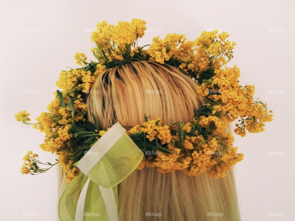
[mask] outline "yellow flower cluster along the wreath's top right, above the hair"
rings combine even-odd
[[[187,41],[184,35],[177,34],[168,34],[163,40],[155,37],[147,50],[149,60],[161,64],[177,60],[181,63],[180,70],[199,78],[199,74],[210,66],[221,68],[233,58],[232,49],[236,44],[226,40],[229,37],[226,32],[217,33],[218,30],[202,32],[195,41]]]

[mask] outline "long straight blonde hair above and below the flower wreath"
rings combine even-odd
[[[168,125],[191,121],[203,100],[197,85],[170,65],[146,61],[120,65],[106,70],[92,85],[88,117],[93,122],[93,114],[101,129],[115,122],[134,126],[145,115],[161,117]],[[163,174],[144,168],[124,180],[118,191],[120,221],[240,220],[232,171],[214,180],[207,174]]]

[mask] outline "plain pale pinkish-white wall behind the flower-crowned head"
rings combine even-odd
[[[148,22],[140,45],[167,33],[195,40],[203,30],[222,29],[235,41],[240,83],[256,86],[274,121],[266,131],[235,136],[245,154],[236,166],[242,220],[295,220],[294,189],[294,2],[293,1],[0,1],[1,220],[57,220],[57,169],[22,176],[27,150],[42,161],[44,134],[22,127],[14,114],[34,119],[53,99],[62,69],[76,67],[75,52],[91,56],[91,32],[102,20]],[[27,92],[27,93],[26,93]],[[273,151],[273,152],[270,152]]]

